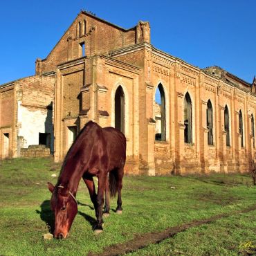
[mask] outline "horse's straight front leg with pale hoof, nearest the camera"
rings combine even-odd
[[[101,173],[98,176],[98,194],[97,194],[97,210],[96,210],[96,218],[97,218],[97,223],[94,229],[95,233],[102,232],[102,208],[103,208],[103,203],[104,203],[104,191],[106,187],[106,180],[107,180],[107,172]]]

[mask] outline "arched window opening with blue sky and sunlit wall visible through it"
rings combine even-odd
[[[165,92],[163,85],[159,84],[156,88],[155,95],[155,120],[156,120],[156,134],[155,140],[166,140],[166,126],[165,126]]]

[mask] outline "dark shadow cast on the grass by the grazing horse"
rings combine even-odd
[[[91,207],[91,205],[81,203],[80,201],[77,201],[77,204],[82,206],[88,206],[91,210],[94,209],[93,207]],[[40,218],[42,219],[42,221],[46,223],[48,232],[53,233],[54,226],[55,226],[55,218],[51,210],[50,200],[43,201],[40,205],[40,208],[41,208],[41,211],[36,210],[35,212],[37,212],[37,214],[40,214]],[[93,217],[81,211],[78,211],[77,213],[80,214],[82,217],[84,217],[84,219],[86,219],[86,221],[88,221],[91,224],[92,228],[95,226],[96,219],[94,219]]]

